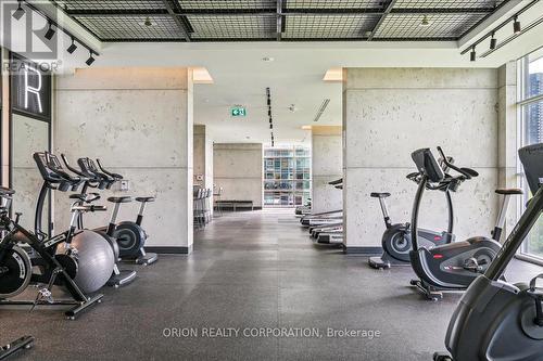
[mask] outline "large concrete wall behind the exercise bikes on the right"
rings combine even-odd
[[[394,222],[411,218],[411,153],[441,145],[480,176],[454,194],[459,238],[489,234],[497,215],[497,70],[350,68],[343,89],[343,172],[348,250],[372,250],[384,229],[370,192],[390,192]],[[441,192],[427,193],[420,227],[446,227]]]

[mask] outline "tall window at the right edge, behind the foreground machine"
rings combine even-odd
[[[518,65],[520,144],[543,143],[543,48],[519,60]],[[526,204],[531,196],[526,182],[523,190]],[[540,218],[528,235],[521,253],[543,261],[543,218]]]

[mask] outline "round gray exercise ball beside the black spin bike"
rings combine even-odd
[[[85,230],[72,240],[72,246],[77,249],[78,270],[75,283],[86,294],[102,288],[110,280],[115,266],[115,256],[110,243],[100,234]],[[64,244],[58,252],[64,252]]]

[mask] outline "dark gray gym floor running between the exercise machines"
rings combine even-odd
[[[512,269],[512,280],[541,272],[520,261]],[[0,309],[0,344],[34,335],[18,360],[420,361],[443,349],[459,298],[427,301],[408,286],[409,268],[376,271],[366,258],[311,243],[292,210],[225,214],[195,233],[191,256],[139,271],[76,321]],[[292,337],[299,328],[311,335]],[[328,328],[379,337],[329,337]]]

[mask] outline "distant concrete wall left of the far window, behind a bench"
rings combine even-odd
[[[262,207],[262,144],[214,144],[214,183],[223,188],[222,199],[253,201],[255,207]]]

